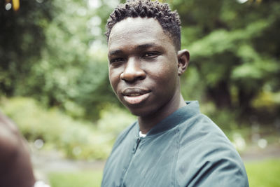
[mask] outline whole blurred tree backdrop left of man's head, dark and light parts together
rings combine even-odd
[[[111,7],[102,1],[20,2],[15,12],[1,1],[0,92],[96,120],[104,103],[116,102],[98,15]]]

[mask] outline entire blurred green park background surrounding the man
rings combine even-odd
[[[0,1],[0,109],[52,187],[99,186],[114,140],[136,119],[108,78],[105,25],[119,2]],[[183,97],[227,134],[251,186],[280,186],[280,1],[164,2],[190,50]]]

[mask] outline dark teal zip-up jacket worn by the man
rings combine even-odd
[[[198,102],[172,113],[139,137],[136,122],[108,158],[102,186],[248,186],[243,162]]]

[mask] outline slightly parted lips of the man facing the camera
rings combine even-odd
[[[139,104],[149,97],[150,92],[143,88],[127,88],[123,90],[122,95],[128,104]]]

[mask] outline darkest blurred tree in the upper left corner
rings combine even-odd
[[[0,1],[0,92],[14,94],[19,81],[41,57],[45,26],[52,20],[50,1],[21,1],[13,11],[11,1]]]

